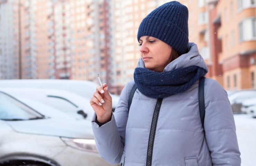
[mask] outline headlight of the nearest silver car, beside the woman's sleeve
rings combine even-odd
[[[64,138],[61,137],[62,141],[66,145],[80,150],[88,152],[98,153],[94,139],[78,139],[78,138]]]

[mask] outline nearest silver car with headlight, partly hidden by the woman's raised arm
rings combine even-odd
[[[0,165],[109,166],[97,153],[89,121],[0,91]]]

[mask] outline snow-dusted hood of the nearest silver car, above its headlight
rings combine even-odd
[[[89,121],[66,121],[46,118],[6,122],[13,130],[21,133],[94,139],[91,122]]]

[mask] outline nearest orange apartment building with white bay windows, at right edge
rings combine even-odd
[[[223,83],[227,90],[255,89],[256,2],[221,0],[216,5],[220,20],[217,36],[221,39]]]

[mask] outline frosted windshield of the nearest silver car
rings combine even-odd
[[[30,120],[39,118],[44,118],[44,116],[11,96],[0,92],[1,120]]]

